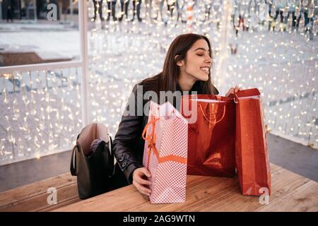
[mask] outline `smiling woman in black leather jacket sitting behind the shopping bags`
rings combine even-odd
[[[147,107],[144,106],[150,101],[141,99],[143,94],[153,91],[159,96],[160,91],[189,91],[189,94],[196,91],[197,94],[217,95],[218,90],[211,83],[211,66],[211,44],[207,37],[192,33],[179,35],[167,51],[163,71],[135,85],[114,138],[113,151],[117,159],[114,188],[125,186],[128,182],[134,184],[141,194],[151,194],[146,187],[150,184],[146,177],[151,177],[151,174],[142,165],[144,141],[141,133],[148,122]],[[138,95],[139,88],[142,88],[141,95]],[[230,88],[226,96],[238,90],[237,86]],[[160,103],[163,102],[165,100],[160,100]],[[133,107],[131,103],[134,103]],[[134,114],[140,112],[140,106],[145,111]],[[127,114],[128,111],[133,113]]]

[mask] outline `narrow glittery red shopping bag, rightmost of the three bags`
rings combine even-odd
[[[242,194],[271,194],[271,172],[259,90],[242,90],[235,95],[237,176]]]

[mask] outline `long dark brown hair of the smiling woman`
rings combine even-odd
[[[160,91],[172,91],[175,92],[180,69],[177,66],[177,61],[187,61],[187,52],[197,40],[204,39],[208,43],[210,49],[209,55],[212,59],[211,44],[208,38],[204,35],[197,35],[193,33],[178,35],[175,40],[172,41],[165,57],[165,63],[163,64],[163,71],[158,75],[151,78],[146,78],[140,85],[144,85],[146,90],[153,90],[157,94]],[[179,55],[178,57],[176,57]],[[176,57],[176,58],[175,58]],[[218,91],[211,83],[211,71],[208,74],[208,81],[196,81],[198,88],[202,94],[218,94]],[[217,92],[217,93],[216,93]]]

